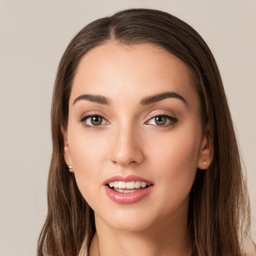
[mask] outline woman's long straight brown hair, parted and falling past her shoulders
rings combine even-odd
[[[190,191],[188,230],[193,255],[243,255],[249,204],[240,156],[225,92],[215,59],[201,36],[187,23],[153,9],[126,9],[82,28],[68,44],[58,66],[51,105],[52,158],[48,176],[48,214],[38,241],[38,256],[86,253],[95,233],[94,215],[80,194],[63,157],[62,129],[81,57],[109,41],[150,43],[184,61],[192,70],[208,123],[214,158],[197,170]]]

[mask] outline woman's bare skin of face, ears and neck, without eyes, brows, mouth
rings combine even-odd
[[[186,102],[168,97],[140,104],[166,91]],[[102,95],[110,104],[73,103],[83,94]],[[100,115],[103,122],[93,126],[86,114]],[[154,115],[171,118],[157,125]],[[95,214],[90,256],[191,254],[189,191],[197,168],[205,169],[212,160],[207,126],[202,126],[189,67],[175,56],[149,44],[109,42],[82,57],[63,137],[65,161]],[[113,202],[103,181],[129,174],[150,180],[152,190],[136,203]]]

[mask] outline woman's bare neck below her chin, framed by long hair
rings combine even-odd
[[[95,215],[97,232],[90,246],[89,256],[188,256],[191,242],[187,222],[163,219],[139,231],[106,228]]]

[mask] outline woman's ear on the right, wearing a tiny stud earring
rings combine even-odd
[[[209,132],[209,124],[206,125],[202,136],[201,147],[197,159],[197,168],[207,169],[213,159],[213,144]]]

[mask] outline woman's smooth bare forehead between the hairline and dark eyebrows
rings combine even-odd
[[[80,94],[140,100],[141,97],[174,91],[198,101],[190,68],[164,49],[150,44],[97,46],[80,60],[70,99]]]

